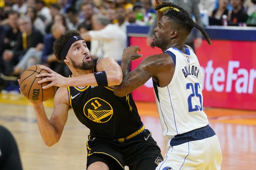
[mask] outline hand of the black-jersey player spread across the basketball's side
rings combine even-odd
[[[52,71],[48,67],[41,66],[40,68],[42,70],[48,71],[49,73],[38,74],[37,78],[40,78],[40,77],[46,77],[46,78],[44,78],[43,80],[38,81],[37,83],[41,84],[41,83],[44,83],[44,82],[47,82],[47,81],[51,82],[50,84],[48,84],[46,86],[43,86],[42,87],[43,89],[47,89],[47,88],[52,87],[52,86],[68,87],[67,86],[67,77],[63,77],[62,75]]]

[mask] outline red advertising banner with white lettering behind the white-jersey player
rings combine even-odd
[[[130,37],[130,45],[140,46],[142,59],[131,63],[135,69],[146,57],[162,53],[147,46],[146,38]],[[205,40],[196,54],[203,73],[204,106],[256,110],[256,42]],[[132,92],[133,99],[155,101],[152,80]]]

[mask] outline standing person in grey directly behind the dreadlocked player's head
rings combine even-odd
[[[171,2],[185,9],[189,13],[190,18],[192,15],[194,15],[196,19],[196,23],[200,26],[203,26],[201,21],[201,14],[198,9],[198,2],[199,2],[198,0],[187,0],[187,1],[172,0]],[[148,32],[148,39],[147,39],[148,46],[150,46],[152,42],[152,36],[154,34],[154,29],[156,25],[157,23],[155,18],[155,22],[153,22]],[[196,38],[194,39],[193,31],[191,31],[190,34],[187,36],[187,39],[185,40],[184,44],[187,44],[188,46],[192,47],[195,51],[195,48],[199,48],[202,44],[201,32],[197,30]]]

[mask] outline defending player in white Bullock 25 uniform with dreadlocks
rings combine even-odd
[[[208,44],[211,41],[184,9],[172,3],[159,4],[155,8],[159,12],[171,9],[154,30],[152,46],[161,48],[163,53],[145,58],[128,73],[130,61],[140,57],[140,49],[126,48],[121,63],[123,81],[114,93],[125,96],[152,77],[163,135],[170,139],[165,159],[156,170],[219,170],[219,140],[202,110],[201,68],[193,50],[184,48],[193,27],[202,32]]]

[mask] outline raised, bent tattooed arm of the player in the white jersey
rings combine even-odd
[[[130,46],[124,50],[121,62],[123,80],[120,85],[114,87],[114,94],[117,96],[123,97],[129,94],[146,83],[151,77],[158,79],[162,73],[166,73],[173,66],[172,60],[169,60],[169,55],[163,53],[145,58],[135,70],[128,73],[131,60],[136,60],[140,57],[136,55],[136,47]],[[133,52],[131,52],[132,50]]]

